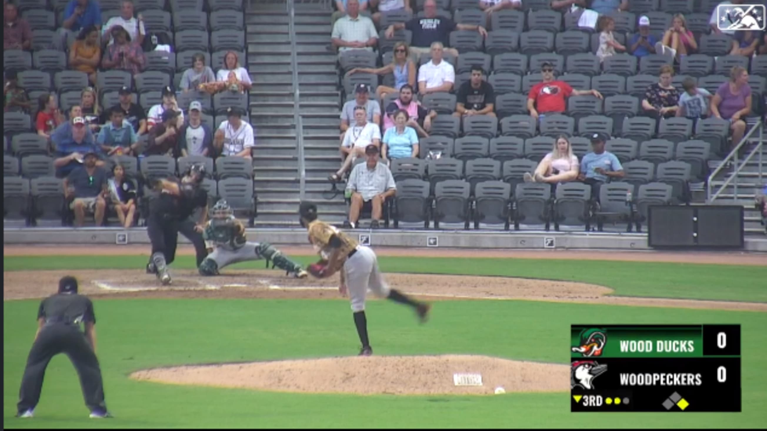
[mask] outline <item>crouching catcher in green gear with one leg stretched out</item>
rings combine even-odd
[[[249,242],[245,239],[245,226],[235,219],[232,207],[224,199],[216,202],[210,212],[202,238],[212,245],[213,251],[199,265],[200,275],[218,275],[219,269],[226,265],[266,259],[267,267],[272,261],[272,268],[284,269],[295,278],[308,276],[301,265],[282,255],[268,242]]]

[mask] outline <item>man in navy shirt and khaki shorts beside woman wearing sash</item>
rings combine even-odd
[[[96,166],[97,153],[88,152],[84,156],[83,166],[74,169],[64,179],[64,196],[73,199],[70,209],[74,210],[74,220],[77,227],[84,223],[85,213],[93,214],[96,225],[104,223],[104,212],[107,209],[106,198],[107,172]]]

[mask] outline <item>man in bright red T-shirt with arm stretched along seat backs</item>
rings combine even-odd
[[[528,94],[530,115],[541,120],[545,114],[562,114],[567,109],[566,98],[570,96],[588,96],[602,98],[597,90],[574,90],[565,81],[554,80],[554,65],[546,61],[541,65],[543,82],[535,84]]]

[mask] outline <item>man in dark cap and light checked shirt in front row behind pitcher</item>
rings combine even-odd
[[[371,143],[365,146],[365,163],[357,163],[346,183],[347,196],[351,195],[349,219],[344,226],[356,227],[360,212],[370,212],[370,228],[377,229],[384,215],[384,202],[397,192],[397,184],[386,163],[379,163],[380,150]],[[372,181],[370,181],[372,178]]]

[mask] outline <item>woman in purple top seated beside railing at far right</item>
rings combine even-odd
[[[749,72],[743,67],[732,67],[729,81],[720,85],[711,99],[711,114],[729,120],[732,146],[738,145],[746,133],[746,115],[751,113],[751,87]]]

